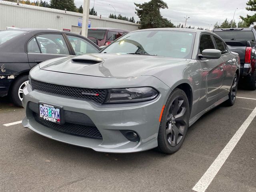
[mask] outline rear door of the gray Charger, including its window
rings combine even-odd
[[[230,53],[228,46],[220,40],[220,38],[213,36],[216,49],[221,51],[221,59],[223,60],[223,82],[222,82],[222,95],[226,96],[230,91],[230,86],[233,82],[234,73],[236,71],[236,60],[234,56]]]

